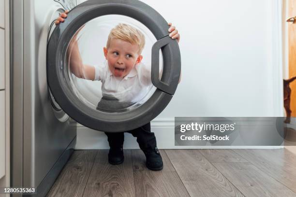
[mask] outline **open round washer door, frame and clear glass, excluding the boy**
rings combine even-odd
[[[123,19],[117,21],[120,17]],[[122,85],[126,89],[121,98],[116,93],[111,96],[106,93],[108,88],[103,85],[104,80],[89,81],[75,76],[69,55],[76,39],[83,63],[93,59],[90,64],[99,65],[96,58],[104,57],[104,54],[103,47],[97,50],[100,42],[96,39],[101,38],[100,33],[106,27],[114,27],[117,23],[130,23],[135,28],[138,25],[140,30],[146,28],[150,33],[144,33],[145,37],[152,35],[154,39],[146,39],[150,58],[148,64],[141,65],[141,68],[147,67],[151,85],[137,86],[141,83],[136,81]],[[65,22],[55,28],[47,45],[47,81],[59,106],[78,123],[99,131],[128,131],[150,122],[172,99],[180,77],[178,42],[169,37],[168,28],[159,13],[138,0],[88,0],[75,7]],[[96,30],[99,33],[94,35]],[[151,41],[153,43],[149,45]],[[107,73],[108,64],[105,61],[96,69]],[[117,77],[119,83],[125,83],[129,77],[128,80],[141,78],[140,72],[137,75],[132,71],[123,79]],[[110,70],[109,74],[112,75]],[[110,77],[109,74],[106,76]]]

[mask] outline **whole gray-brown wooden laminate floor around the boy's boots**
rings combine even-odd
[[[296,197],[296,154],[287,149],[161,150],[151,171],[141,150],[74,151],[47,197]]]

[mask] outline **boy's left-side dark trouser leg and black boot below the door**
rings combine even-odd
[[[108,161],[112,165],[121,164],[124,161],[123,157],[123,133],[105,133],[108,137],[110,146]]]

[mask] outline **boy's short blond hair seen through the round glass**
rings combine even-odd
[[[139,55],[142,53],[145,46],[145,36],[143,33],[127,24],[119,23],[115,28],[111,29],[108,36],[107,48],[110,46],[111,39],[113,38],[138,45]]]

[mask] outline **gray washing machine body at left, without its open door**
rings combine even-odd
[[[76,139],[76,122],[50,97],[46,81],[48,35],[65,8],[54,0],[10,2],[11,186],[34,187],[32,196],[43,197]]]

